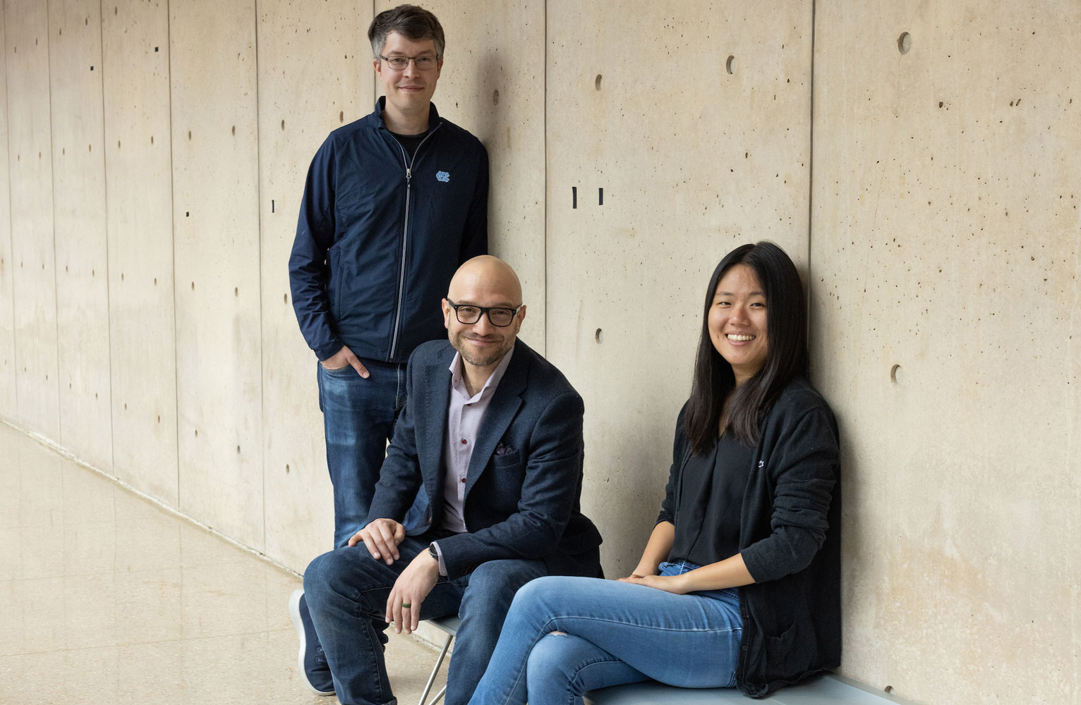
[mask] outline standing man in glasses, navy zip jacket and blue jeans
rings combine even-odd
[[[316,152],[289,260],[293,308],[319,358],[335,546],[366,524],[410,353],[445,335],[439,301],[454,270],[488,252],[488,153],[431,103],[443,28],[399,5],[376,15],[368,37],[386,95]],[[411,529],[425,501],[403,517]],[[303,595],[290,608],[303,635]],[[312,690],[333,694],[321,652],[302,647],[301,659],[324,674],[309,678]]]

